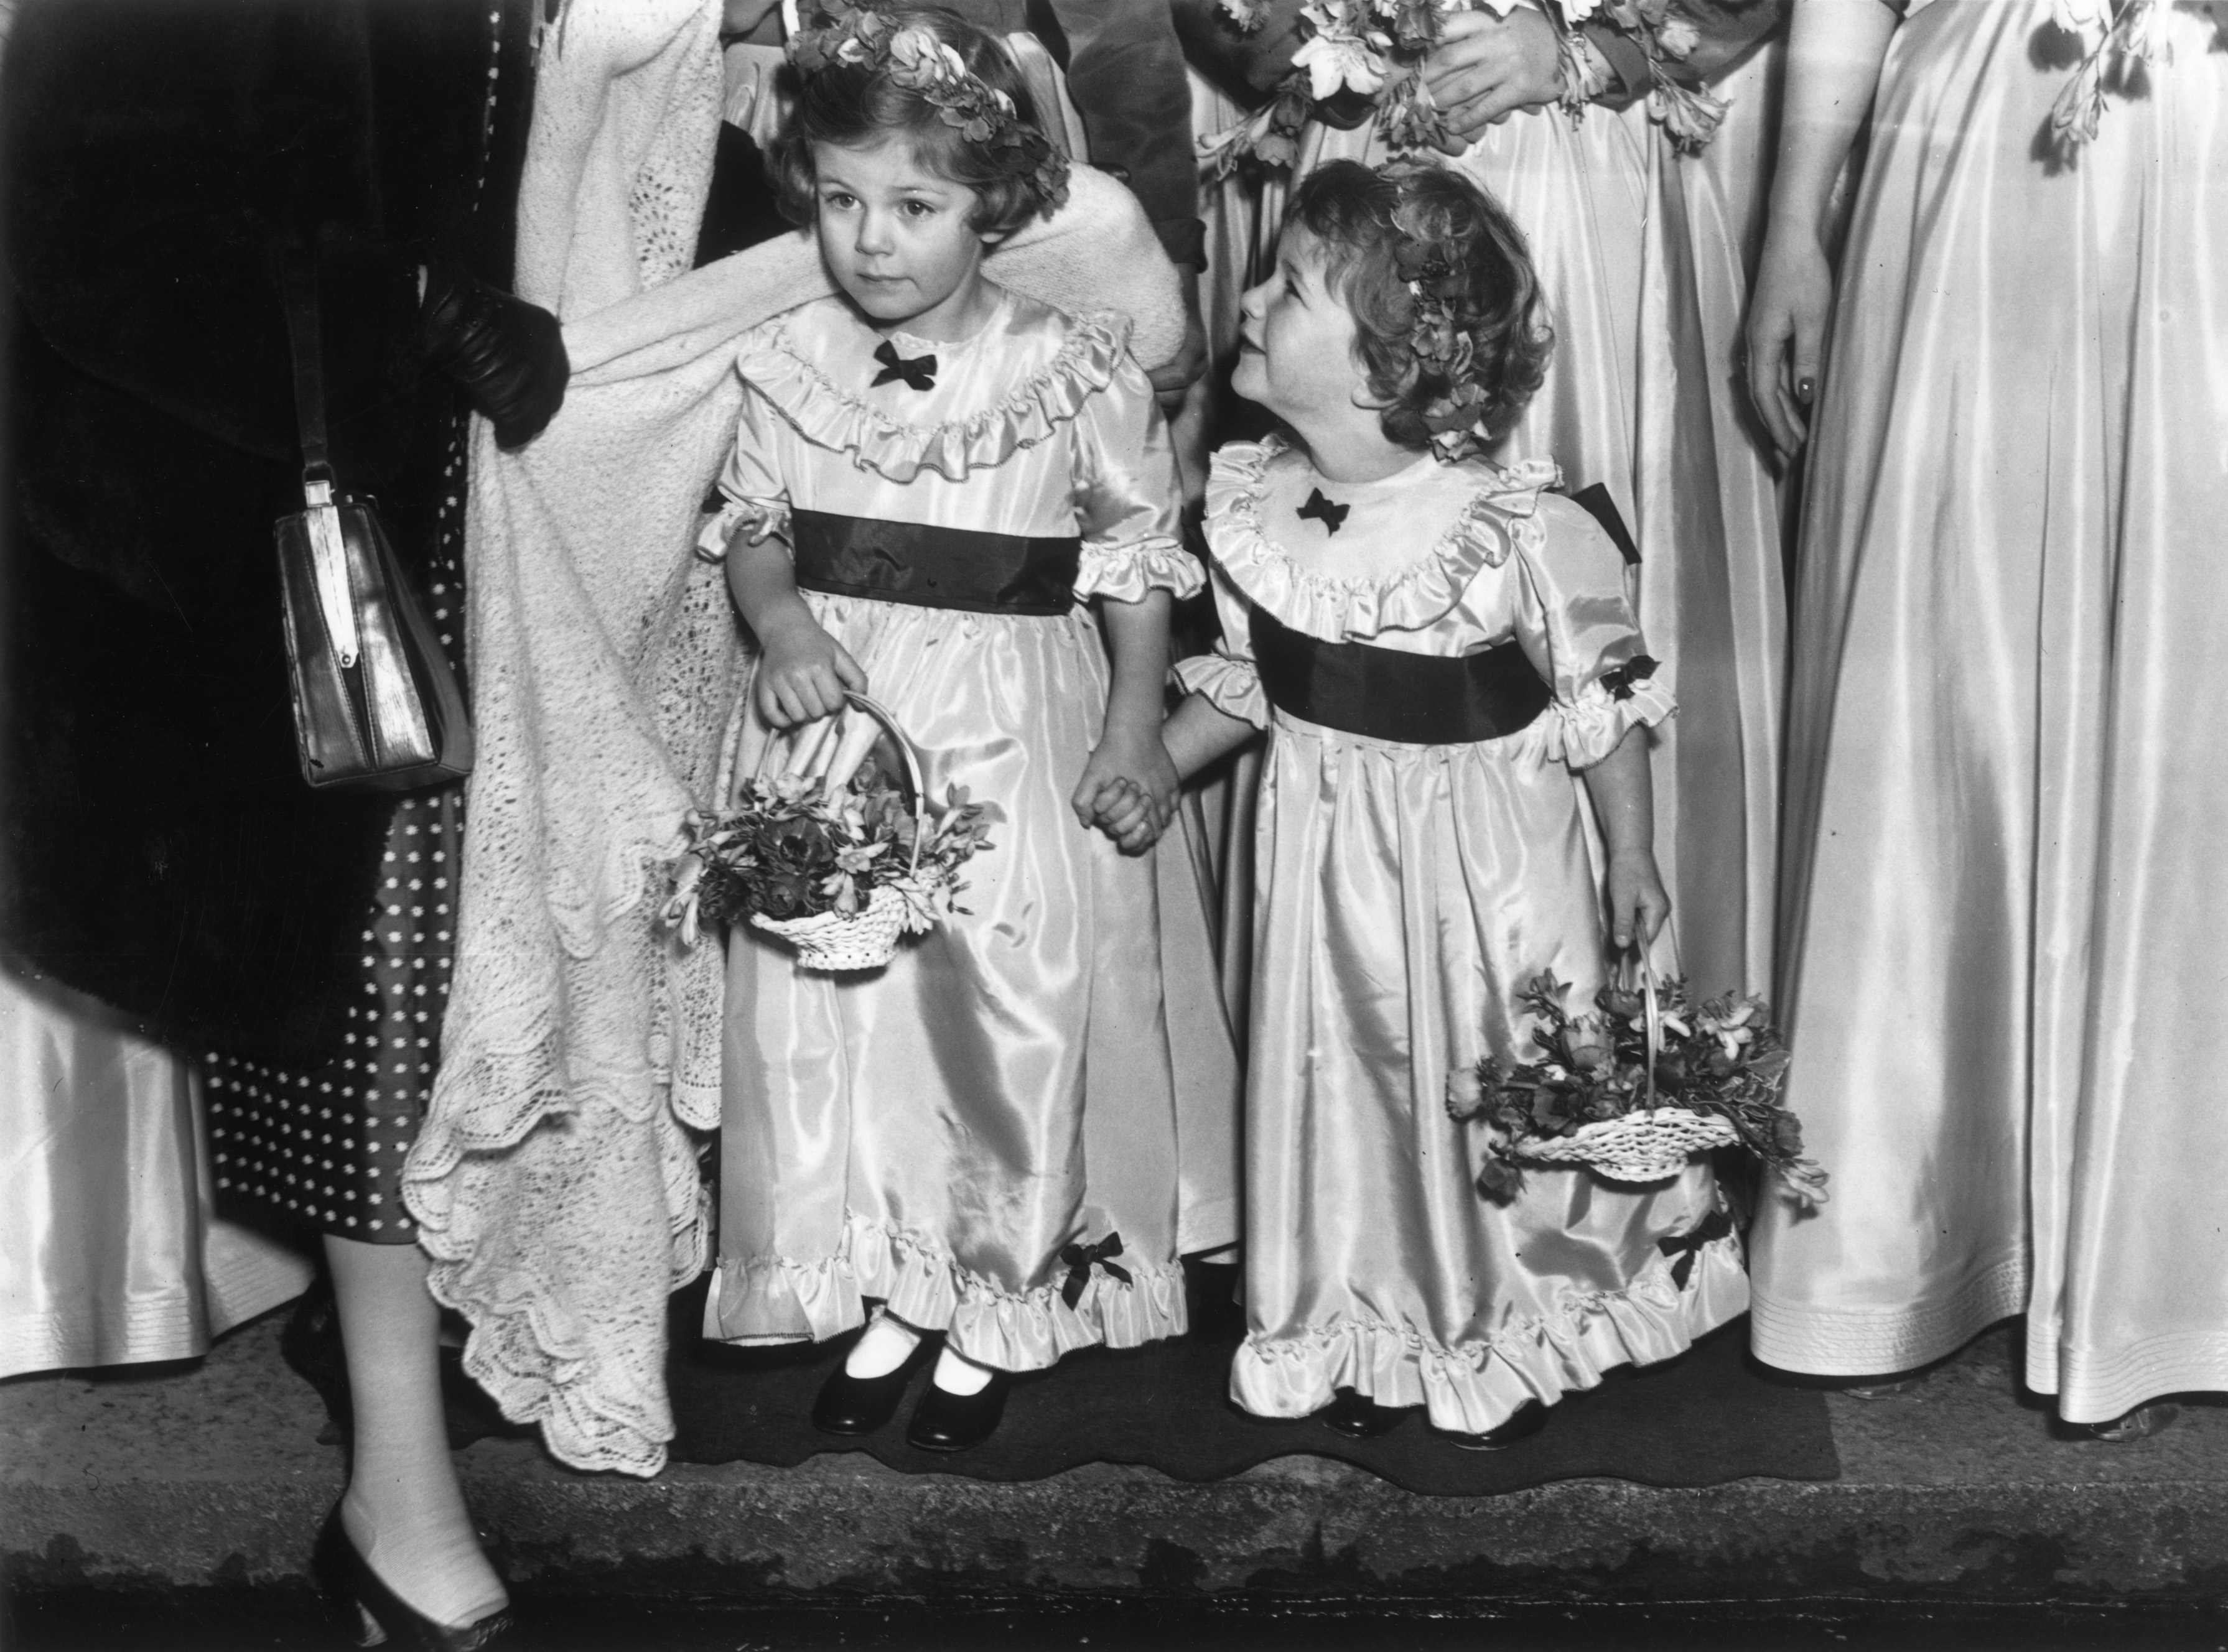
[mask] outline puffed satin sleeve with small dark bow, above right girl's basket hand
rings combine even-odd
[[[1678,710],[1624,590],[1624,559],[1602,525],[1557,494],[1540,494],[1537,532],[1517,534],[1524,581],[1517,641],[1555,692],[1548,757],[1593,768],[1635,724]]]

